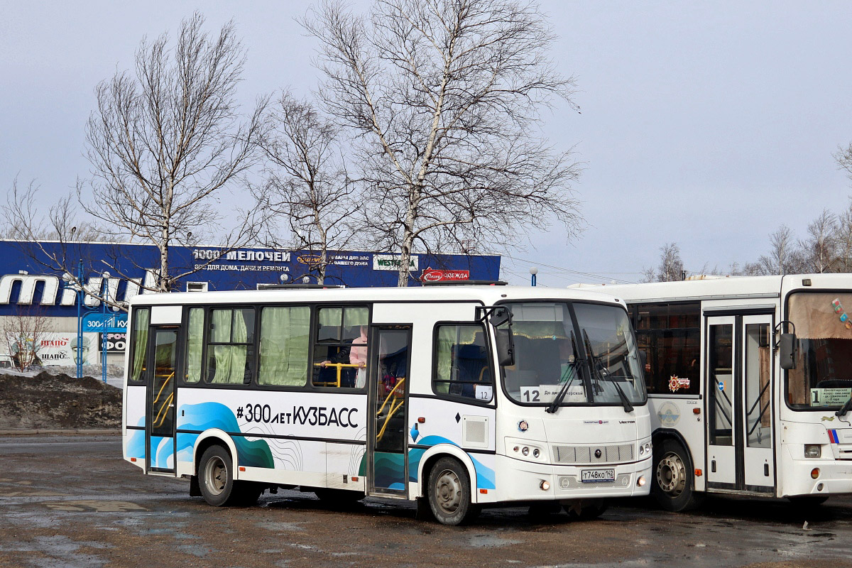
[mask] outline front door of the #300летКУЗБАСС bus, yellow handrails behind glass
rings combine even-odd
[[[377,325],[370,331],[367,493],[408,496],[408,385],[412,327]]]

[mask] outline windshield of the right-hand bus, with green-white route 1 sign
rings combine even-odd
[[[787,306],[799,347],[787,371],[788,404],[840,408],[852,394],[852,294],[798,292]]]

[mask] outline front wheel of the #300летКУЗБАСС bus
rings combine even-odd
[[[470,502],[468,472],[458,460],[442,457],[429,472],[429,508],[441,525],[461,525],[479,508]]]

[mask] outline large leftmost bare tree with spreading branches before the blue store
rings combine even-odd
[[[232,22],[210,35],[204,17],[194,14],[181,22],[174,45],[166,34],[153,42],[143,39],[135,72],[117,72],[95,88],[97,109],[86,127],[92,178],[78,181],[76,197],[85,218],[94,219],[104,235],[157,247],[158,267],[147,290],[172,290],[177,279],[199,269],[176,270],[170,247],[186,244],[193,234],[203,238],[209,227],[219,230],[216,221],[226,215],[216,208],[217,198],[254,163],[265,101],[240,122],[235,93],[244,63]],[[28,240],[36,240],[44,224],[35,207],[36,190],[15,187],[5,207],[20,237]],[[222,243],[222,254],[254,241],[258,210],[229,210],[228,220],[239,219],[232,230],[209,233]],[[47,218],[61,250],[80,240],[86,223],[79,221],[71,199],[49,209]],[[60,256],[51,259],[53,268],[76,273],[77,259]]]

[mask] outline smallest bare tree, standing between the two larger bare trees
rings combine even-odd
[[[289,242],[315,253],[308,267],[319,284],[331,263],[330,250],[343,250],[354,237],[360,210],[354,185],[349,183],[338,144],[338,129],[307,100],[283,93],[266,115],[260,146],[268,158],[266,182],[256,198],[273,216],[284,219]],[[279,246],[274,225],[266,242]]]

